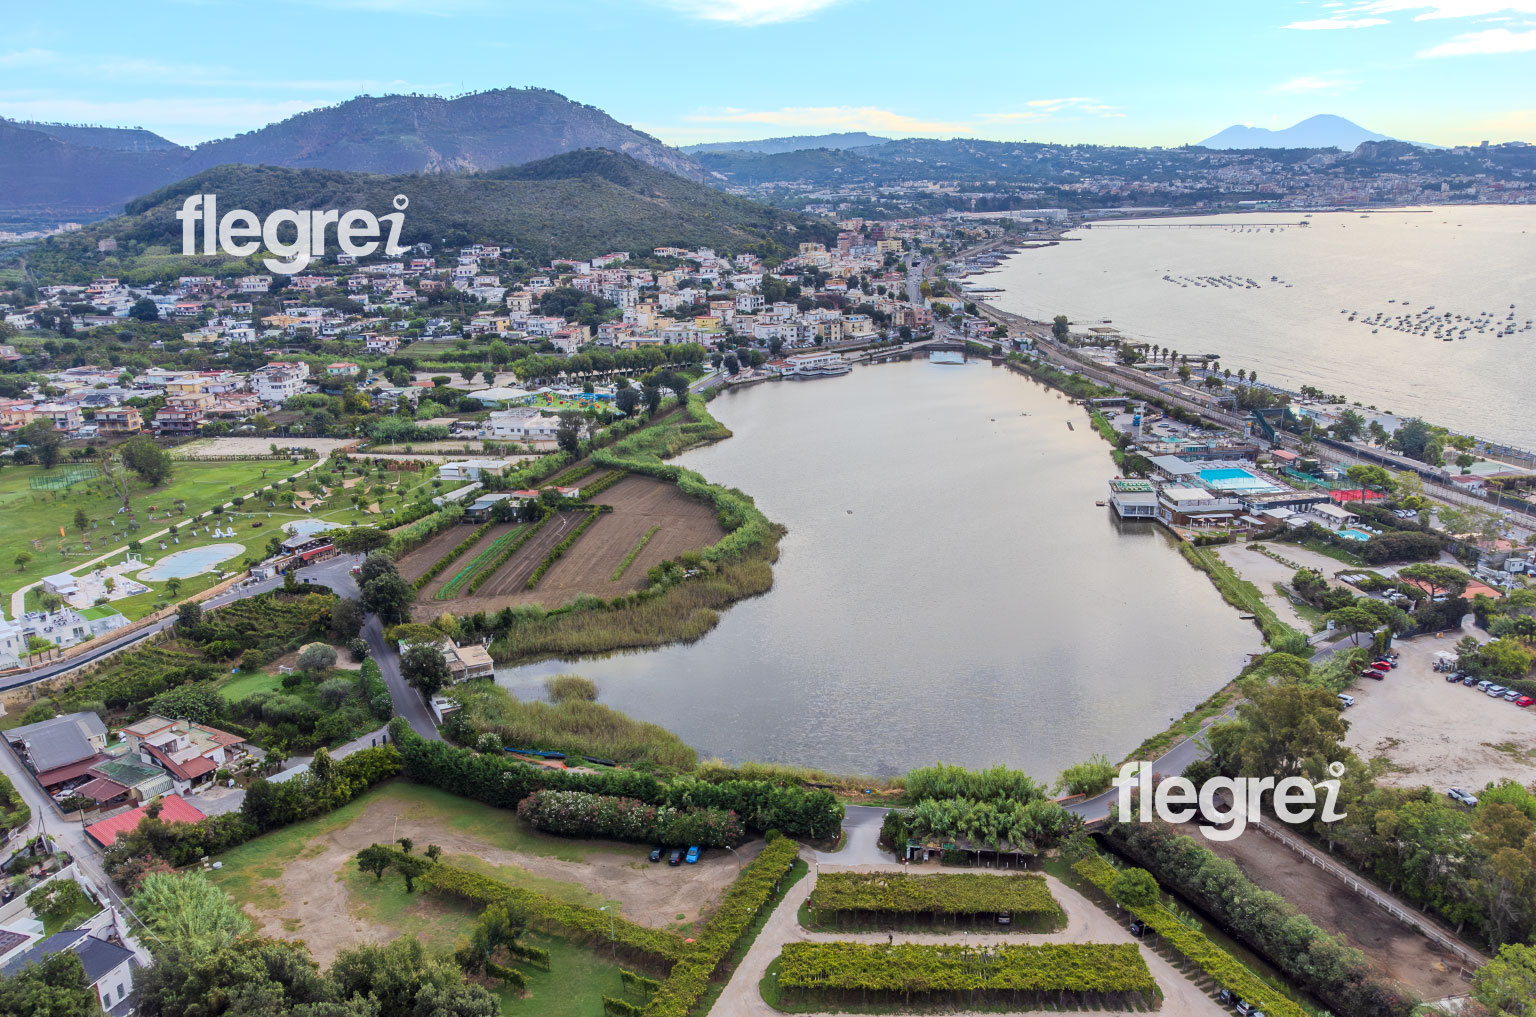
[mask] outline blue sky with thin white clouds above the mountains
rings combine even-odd
[[[0,37],[0,115],[181,143],[362,92],[524,84],[673,144],[1181,144],[1318,112],[1536,141],[1536,0],[75,0],[14,8]]]

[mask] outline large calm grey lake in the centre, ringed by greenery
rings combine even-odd
[[[693,645],[498,681],[536,697],[547,674],[587,674],[705,756],[1051,779],[1120,759],[1260,648],[1161,532],[1095,507],[1107,446],[1012,372],[857,367],[711,410],[736,436],[682,462],[788,525],[774,588]]]

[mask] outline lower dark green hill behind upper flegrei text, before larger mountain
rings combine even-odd
[[[175,214],[190,194],[217,194],[220,212],[249,209],[258,217],[275,209],[386,214],[402,194],[410,198],[404,244],[498,243],[539,261],[662,246],[776,255],[828,237],[825,224],[794,212],[736,198],[630,155],[582,149],[488,174],[218,166],[129,201],[121,217],[34,246],[26,252],[32,272],[40,281],[63,283],[98,273],[149,281],[194,267],[217,270],[227,258],[167,257],[180,252]],[[118,243],[117,253],[97,252],[106,238]]]

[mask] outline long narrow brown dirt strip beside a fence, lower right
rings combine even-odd
[[[1296,906],[1326,933],[1342,936],[1389,979],[1396,979],[1425,1000],[1467,991],[1455,959],[1376,905],[1356,897],[1329,873],[1256,831],[1236,840],[1206,840],[1186,823],[1183,833],[1217,854],[1236,862],[1243,874]]]

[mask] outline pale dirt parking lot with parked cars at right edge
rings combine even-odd
[[[1350,722],[1346,740],[1367,759],[1392,760],[1382,783],[1428,783],[1444,793],[1453,785],[1482,788],[1499,777],[1536,780],[1536,707],[1490,699],[1435,671],[1435,653],[1452,650],[1462,634],[1487,639],[1468,625],[1442,639],[1398,642],[1398,670],[1385,681],[1359,679],[1346,690],[1356,699],[1344,714]]]

